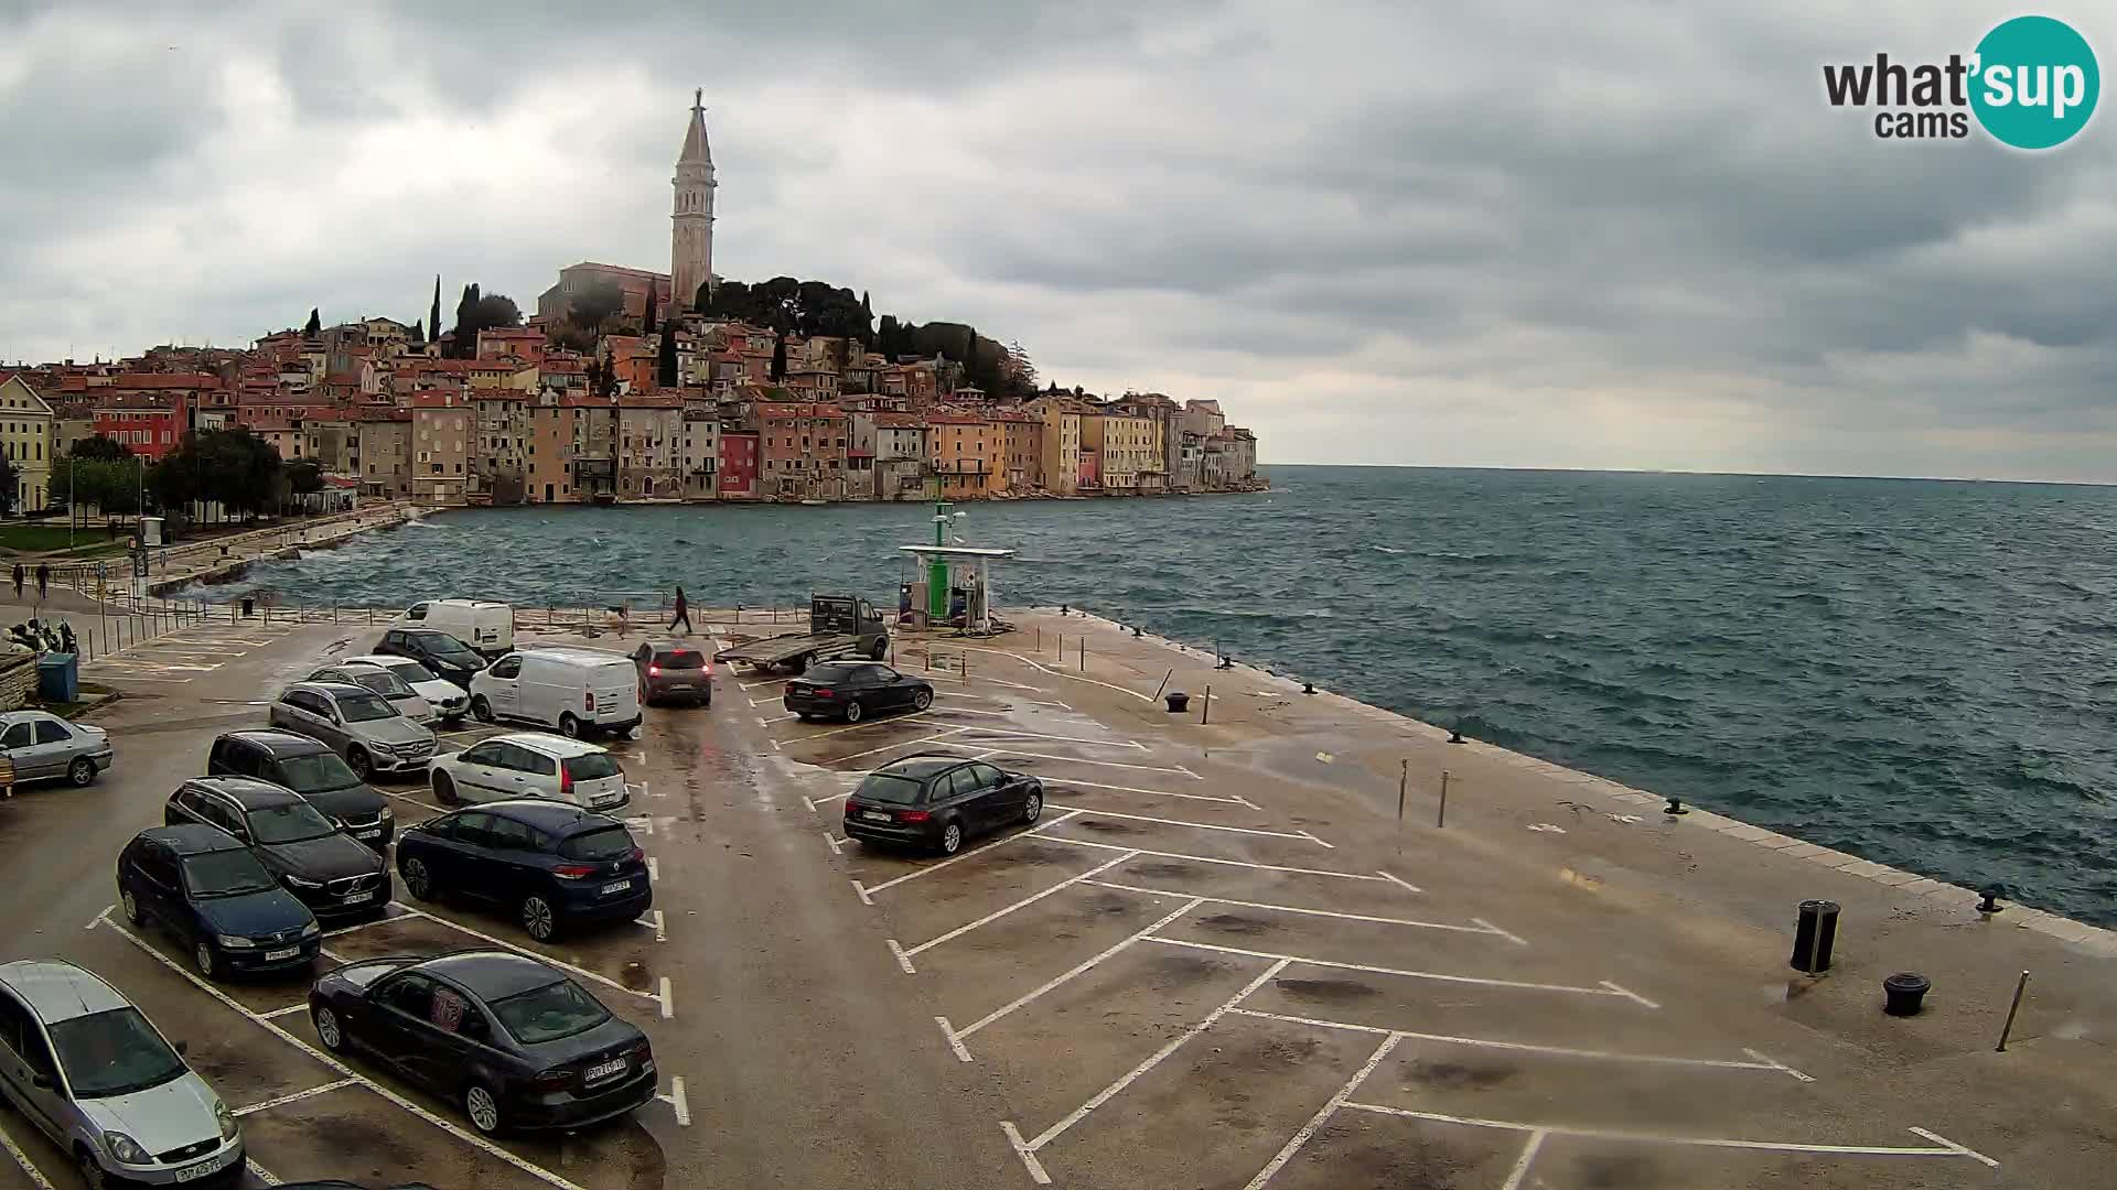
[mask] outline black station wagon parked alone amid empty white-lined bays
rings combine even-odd
[[[845,834],[955,855],[972,834],[1033,824],[1044,781],[961,756],[904,756],[866,775],[845,798]]]

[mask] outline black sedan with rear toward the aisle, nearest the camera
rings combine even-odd
[[[360,1048],[472,1126],[578,1129],[654,1099],[654,1048],[565,972],[510,951],[366,959],[315,980],[324,1048]]]

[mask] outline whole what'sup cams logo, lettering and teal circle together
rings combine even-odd
[[[1962,57],[1946,64],[1874,61],[1823,68],[1833,108],[1878,108],[1882,140],[1962,140],[1971,116],[1992,140],[2013,148],[2056,148],[2073,140],[2102,93],[2096,51],[2073,25],[2015,17],[1996,25]]]

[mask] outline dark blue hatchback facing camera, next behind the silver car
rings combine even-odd
[[[142,830],[119,853],[125,921],[159,925],[191,949],[205,978],[303,968],[322,925],[265,864],[224,830],[184,824]]]

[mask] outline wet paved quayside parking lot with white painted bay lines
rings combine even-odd
[[[694,608],[690,639],[804,612]],[[895,635],[923,711],[807,722],[741,667],[709,707],[650,707],[608,741],[654,881],[637,921],[542,944],[400,891],[334,930],[330,961],[536,953],[652,1038],[633,1116],[487,1141],[326,1054],[307,974],[207,985],[80,879],[214,735],[387,618],[260,610],[121,650],[95,714],[119,764],[0,800],[0,951],[78,961],[186,1038],[243,1120],[246,1186],[2041,1190],[2117,1158],[2106,932],[1052,610]],[[625,652],[663,625],[561,610],[517,637]],[[1035,822],[951,858],[849,841],[851,790],[915,754],[1035,775]],[[377,788],[400,830],[447,809],[423,775]],[[1791,961],[1804,900],[1842,906],[1816,976]],[[1884,1012],[1899,972],[1931,985],[1918,1014]],[[0,1139],[0,1190],[68,1175],[15,1116]]]

